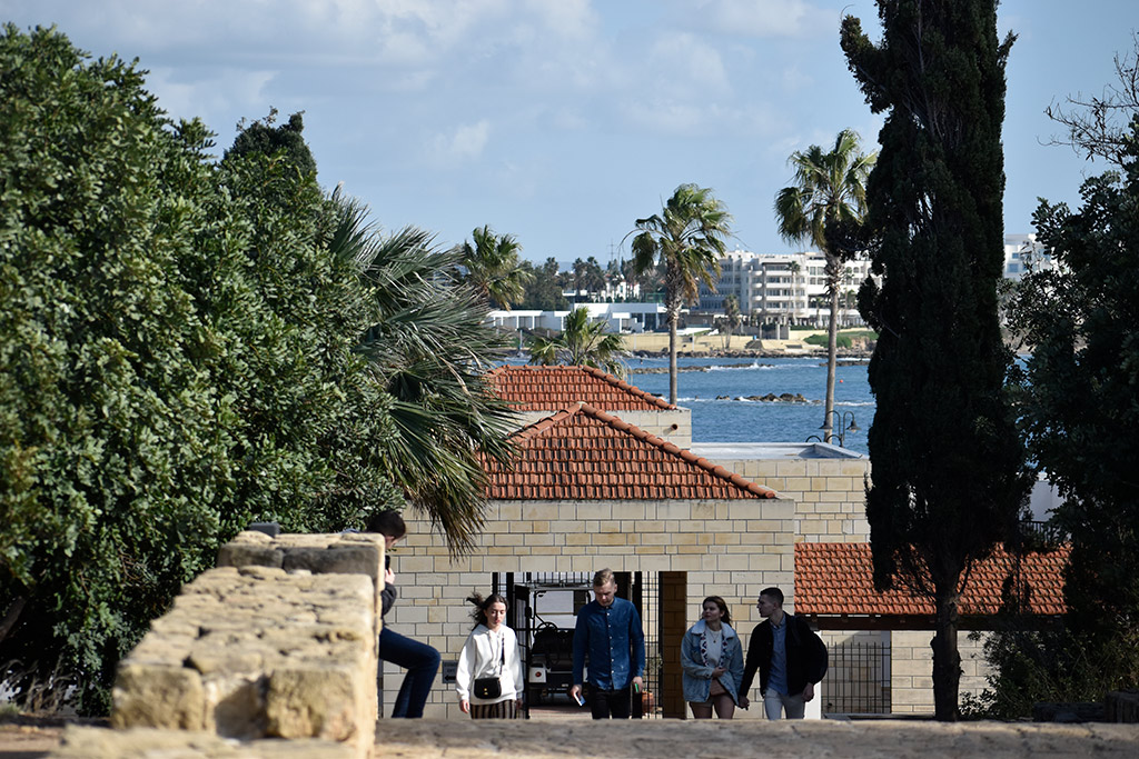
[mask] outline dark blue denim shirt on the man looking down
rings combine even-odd
[[[645,632],[637,607],[614,599],[605,609],[590,601],[577,612],[573,634],[573,682],[584,683],[582,671],[589,654],[589,684],[603,691],[629,687],[645,673]]]

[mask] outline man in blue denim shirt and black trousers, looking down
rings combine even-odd
[[[581,698],[582,673],[589,655],[589,709],[593,719],[629,719],[629,686],[641,691],[645,671],[645,632],[637,608],[617,597],[613,572],[593,575],[593,600],[577,612],[573,634],[573,687]],[[639,696],[638,696],[639,698]]]

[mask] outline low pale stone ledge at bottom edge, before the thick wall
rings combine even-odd
[[[54,759],[352,759],[351,745],[318,739],[238,743],[211,733],[69,726]]]

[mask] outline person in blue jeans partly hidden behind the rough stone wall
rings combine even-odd
[[[368,521],[367,531],[383,535],[387,548],[391,550],[398,541],[407,535],[408,528],[398,511],[382,511]],[[387,610],[395,604],[396,595],[395,574],[392,571],[391,556],[385,554],[380,616],[387,614]],[[379,659],[391,661],[408,670],[400,685],[400,692],[395,696],[395,703],[392,706],[392,717],[423,717],[424,704],[427,703],[431,686],[435,682],[435,674],[439,673],[439,651],[426,643],[400,635],[384,625],[379,632]]]

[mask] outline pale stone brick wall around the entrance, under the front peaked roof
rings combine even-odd
[[[707,595],[721,595],[749,632],[759,619],[755,594],[794,587],[795,504],[785,498],[734,501],[494,502],[469,555],[452,558],[429,523],[408,520],[393,548],[400,600],[385,624],[453,660],[470,632],[473,592],[490,591],[492,572],[685,572],[681,614],[691,625]],[[679,645],[662,641],[662,645]],[[384,665],[384,713],[403,677]],[[453,685],[437,678],[427,717],[461,715]]]

